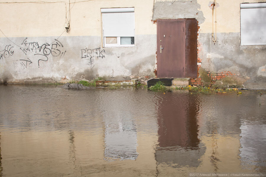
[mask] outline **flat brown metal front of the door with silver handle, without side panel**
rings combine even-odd
[[[185,77],[185,20],[157,20],[158,78]]]

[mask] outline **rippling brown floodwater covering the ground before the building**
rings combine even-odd
[[[266,92],[242,93],[0,85],[0,176],[266,176]]]

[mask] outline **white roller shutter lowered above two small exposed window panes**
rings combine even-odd
[[[104,37],[134,37],[134,12],[112,12],[102,14]]]

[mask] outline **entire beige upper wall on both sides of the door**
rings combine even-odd
[[[7,37],[59,36],[64,32],[65,23],[70,21],[70,33],[63,36],[101,36],[102,22],[100,8],[135,7],[135,34],[156,34],[153,3],[169,0],[106,0],[106,1],[23,1],[13,0],[0,3],[1,30]],[[240,32],[240,4],[263,2],[264,0],[217,0],[217,32]],[[69,4],[70,2],[70,4]],[[170,1],[171,2],[171,1]],[[205,21],[200,24],[200,32],[212,32],[212,10],[209,1],[197,0]],[[69,14],[70,7],[70,14]],[[25,25],[26,24],[26,25]],[[4,37],[0,33],[0,37]]]

